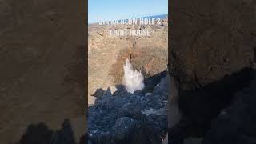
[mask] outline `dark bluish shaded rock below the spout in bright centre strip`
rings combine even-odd
[[[152,94],[106,90],[88,110],[89,143],[161,143],[167,131],[166,77]]]

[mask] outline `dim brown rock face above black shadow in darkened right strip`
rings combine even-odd
[[[254,62],[255,10],[253,0],[171,2],[169,62],[180,86],[204,86]]]

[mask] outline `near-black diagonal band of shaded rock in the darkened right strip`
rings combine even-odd
[[[178,143],[187,137],[204,137],[212,120],[233,102],[234,94],[250,86],[254,73],[253,69],[244,68],[201,88],[180,90],[178,103],[182,120],[170,128],[169,140]]]

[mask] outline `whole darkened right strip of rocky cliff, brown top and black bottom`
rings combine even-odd
[[[171,2],[169,70],[182,120],[170,142],[254,143],[244,123],[255,125],[255,11],[254,0]]]

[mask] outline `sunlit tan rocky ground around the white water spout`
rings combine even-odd
[[[114,37],[110,29],[150,29],[150,36]],[[122,66],[125,58],[132,55],[132,63],[147,76],[166,70],[168,58],[168,24],[153,26],[109,26],[97,23],[88,26],[88,104],[93,105],[95,97],[91,96],[97,89],[114,90],[122,83]],[[135,42],[135,44],[134,44]],[[133,50],[135,45],[135,50]]]

